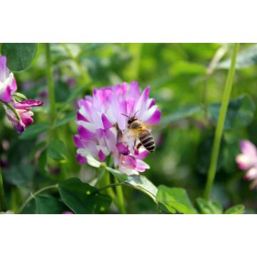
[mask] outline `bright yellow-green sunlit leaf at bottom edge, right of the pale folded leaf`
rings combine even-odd
[[[158,203],[163,204],[168,211],[174,213],[195,214],[196,209],[193,207],[186,190],[183,188],[168,188],[167,186],[158,186],[156,195]]]

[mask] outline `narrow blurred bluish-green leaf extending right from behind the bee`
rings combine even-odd
[[[201,106],[185,106],[180,110],[174,112],[173,114],[163,117],[163,119],[161,119],[160,125],[166,126],[171,122],[188,118],[190,116],[193,116],[194,114],[201,113],[201,110]]]

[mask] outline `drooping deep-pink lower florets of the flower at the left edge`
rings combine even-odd
[[[26,126],[32,124],[34,120],[32,116],[34,115],[33,111],[31,111],[31,107],[42,106],[43,102],[39,100],[26,100],[21,102],[16,102],[14,99],[11,103],[9,103],[14,109],[16,109],[19,114],[20,119],[14,114],[14,112],[9,109],[8,106],[4,105],[4,109],[6,111],[6,116],[11,121],[11,124],[14,126],[14,129],[21,133],[25,130]]]

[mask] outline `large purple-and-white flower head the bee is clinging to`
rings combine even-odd
[[[150,125],[158,124],[161,111],[156,101],[149,99],[149,91],[148,86],[140,94],[138,83],[133,81],[131,84],[94,89],[92,97],[79,100],[79,134],[74,136],[79,163],[86,163],[88,155],[104,161],[112,154],[114,166],[128,175],[149,168],[143,161],[148,151],[143,147],[136,148],[137,142],[127,128],[126,117],[136,113],[138,120]]]

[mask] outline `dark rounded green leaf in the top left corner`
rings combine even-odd
[[[36,56],[38,44],[35,43],[4,43],[1,54],[7,57],[7,66],[11,71],[26,69]]]

